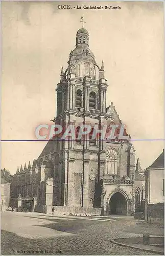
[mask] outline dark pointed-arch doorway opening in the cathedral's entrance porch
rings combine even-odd
[[[109,215],[127,215],[127,200],[119,191],[109,201]]]

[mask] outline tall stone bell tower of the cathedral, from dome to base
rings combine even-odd
[[[104,63],[97,65],[89,49],[89,33],[81,28],[76,34],[76,48],[70,52],[68,67],[61,69],[57,84],[56,124],[94,126],[106,122],[107,80]],[[100,173],[103,141],[85,139],[56,141],[54,205],[91,206]],[[92,178],[91,178],[92,177]]]

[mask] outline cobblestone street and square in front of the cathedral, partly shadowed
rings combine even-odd
[[[132,217],[57,217],[35,212],[2,213],[2,254],[129,254],[150,252],[122,247],[115,238],[163,236],[163,228]]]

